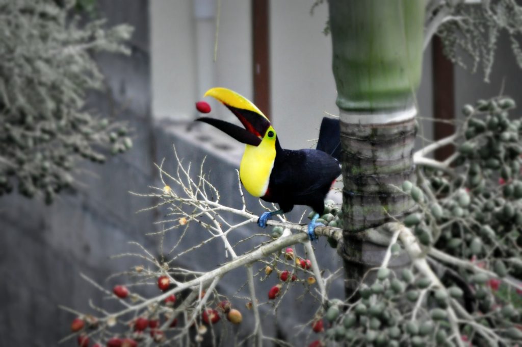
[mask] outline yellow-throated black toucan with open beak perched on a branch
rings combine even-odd
[[[241,183],[251,195],[279,205],[279,210],[263,213],[257,224],[265,228],[271,216],[290,212],[294,205],[306,205],[315,212],[308,235],[311,240],[317,239],[314,229],[321,224],[316,220],[324,212],[326,194],[341,173],[338,120],[323,119],[318,149],[294,151],[281,148],[276,130],[250,100],[221,87],[209,89],[204,97],[207,96],[232,111],[244,129],[219,119],[196,120],[215,126],[245,144],[239,169]]]

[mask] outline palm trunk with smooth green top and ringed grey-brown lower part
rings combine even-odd
[[[421,0],[330,0],[333,71],[340,110],[346,295],[381,264],[385,245],[358,233],[414,207],[395,187],[413,175],[422,66]],[[403,265],[399,259],[390,267]]]

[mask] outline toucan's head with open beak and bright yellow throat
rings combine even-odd
[[[264,196],[276,158],[277,134],[268,118],[250,100],[227,88],[209,89],[204,96],[221,101],[243,124],[241,127],[211,118],[199,118],[245,143],[239,175],[248,193]]]

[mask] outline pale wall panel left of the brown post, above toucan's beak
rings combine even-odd
[[[252,97],[250,1],[221,1],[216,62],[215,14],[207,18],[198,12],[200,16],[196,18],[194,10],[194,6],[209,4],[216,8],[217,2],[150,2],[152,114],[158,119],[194,119],[194,102],[203,96],[203,91],[215,86]],[[216,108],[213,102],[211,105],[218,114],[229,117],[224,108]]]

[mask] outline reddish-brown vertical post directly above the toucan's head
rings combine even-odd
[[[252,0],[254,103],[270,118],[269,0]]]

